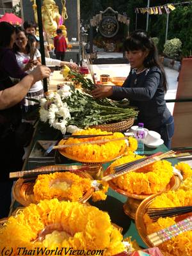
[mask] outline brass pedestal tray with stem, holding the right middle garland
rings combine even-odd
[[[110,170],[111,166],[108,166],[106,169],[106,172],[104,172],[104,176],[109,175],[111,173]],[[120,193],[121,195],[127,196],[127,201],[124,204],[124,212],[127,214],[130,218],[135,219],[136,218],[136,211],[145,198],[148,198],[148,196],[151,195],[137,195],[137,194],[131,194],[127,191],[124,191],[123,189],[118,188],[112,180],[108,181],[109,187],[116,191],[117,193]],[[163,191],[160,191],[159,193],[163,193],[169,190],[177,190],[180,186],[180,179],[178,176],[173,175],[170,179],[170,183],[166,186],[166,189]],[[157,193],[156,195],[159,195]]]

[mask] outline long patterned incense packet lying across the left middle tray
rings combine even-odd
[[[52,172],[66,172],[66,171],[87,171],[91,170],[92,168],[97,167],[98,165],[54,165],[54,166],[47,166],[45,168],[36,168],[34,170],[28,171],[21,171],[21,172],[10,172],[10,179],[15,178],[31,178],[36,177],[39,174],[48,174]]]

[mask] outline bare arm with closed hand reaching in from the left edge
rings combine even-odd
[[[0,110],[19,103],[36,81],[50,76],[51,70],[45,66],[36,67],[28,76],[10,88],[0,91]]]

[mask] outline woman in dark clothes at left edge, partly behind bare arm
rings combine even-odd
[[[15,42],[15,28],[8,22],[0,23],[0,91],[11,88],[13,79],[27,76],[17,64],[12,51]],[[20,104],[0,109],[0,218],[8,216],[11,201],[12,180],[9,172],[22,168],[24,150],[16,140],[16,130],[21,123]],[[9,145],[9,146],[8,146]]]

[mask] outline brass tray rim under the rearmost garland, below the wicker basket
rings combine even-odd
[[[61,140],[58,145],[64,145],[67,140]],[[59,152],[61,155],[67,157],[68,159],[72,159],[74,161],[80,162],[80,163],[89,163],[89,164],[102,164],[102,163],[108,163],[111,161],[114,161],[122,156],[124,156],[125,151],[127,150],[127,143],[128,141],[125,140],[125,146],[121,148],[120,152],[116,157],[105,159],[104,161],[92,161],[92,160],[84,160],[80,159],[78,156],[71,156],[65,152],[65,149],[60,149]]]

